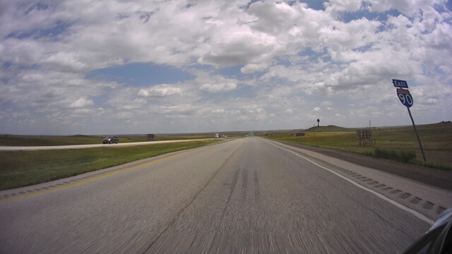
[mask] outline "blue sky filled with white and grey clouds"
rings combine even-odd
[[[0,133],[452,120],[446,0],[0,0]]]

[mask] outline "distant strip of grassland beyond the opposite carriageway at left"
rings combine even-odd
[[[119,135],[119,143],[162,141],[162,140],[189,140],[213,138],[213,135],[157,135],[148,140],[145,136]],[[32,136],[32,135],[0,135],[0,145],[4,146],[52,146],[52,145],[90,145],[102,144],[105,136],[70,135],[70,136]]]

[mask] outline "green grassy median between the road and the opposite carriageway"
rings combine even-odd
[[[201,147],[215,141],[203,140],[74,150],[0,152],[0,190],[63,179],[138,159],[163,155],[167,152]]]

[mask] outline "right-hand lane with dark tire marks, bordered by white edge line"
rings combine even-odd
[[[398,253],[428,228],[251,138],[147,253]]]

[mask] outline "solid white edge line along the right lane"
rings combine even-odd
[[[399,202],[396,202],[396,201],[394,201],[394,200],[391,200],[390,198],[386,198],[386,196],[381,195],[380,193],[377,193],[376,191],[372,191],[371,189],[366,188],[366,187],[360,185],[359,183],[357,183],[357,182],[355,182],[355,181],[352,181],[351,179],[347,179],[347,177],[345,177],[345,176],[343,176],[343,175],[341,175],[341,174],[338,174],[337,172],[335,172],[335,171],[333,171],[333,170],[331,170],[331,169],[328,169],[328,168],[326,168],[326,167],[323,167],[323,166],[317,164],[316,162],[311,161],[311,159],[302,157],[301,155],[297,154],[296,152],[293,152],[293,151],[291,151],[291,150],[287,150],[287,149],[285,149],[284,147],[280,147],[279,145],[275,145],[274,143],[272,143],[272,142],[270,142],[270,141],[268,141],[268,142],[269,142],[271,145],[274,145],[275,147],[278,147],[278,148],[280,148],[280,149],[286,150],[287,152],[291,152],[292,154],[297,155],[298,157],[300,157],[300,158],[302,158],[302,159],[306,159],[308,162],[311,162],[312,164],[316,165],[317,167],[321,167],[322,169],[326,169],[326,170],[330,171],[331,173],[335,174],[336,176],[339,176],[340,178],[349,181],[350,183],[354,184],[355,186],[357,186],[357,187],[359,187],[359,188],[362,188],[364,191],[368,191],[369,193],[372,193],[372,194],[376,195],[377,197],[381,198],[382,200],[386,200],[387,202],[390,202],[391,204],[395,205],[396,207],[399,207],[401,210],[404,210],[405,212],[410,212],[410,214],[414,215],[415,217],[417,217],[417,219],[420,219],[420,220],[422,220],[423,222],[426,222],[426,223],[428,223],[428,224],[430,224],[430,225],[433,225],[433,224],[434,224],[434,221],[433,221],[432,219],[427,218],[424,214],[421,214],[420,212],[416,212],[415,210],[412,210],[412,209],[409,208],[409,207],[405,207],[405,205],[402,205],[402,204],[400,204]]]

